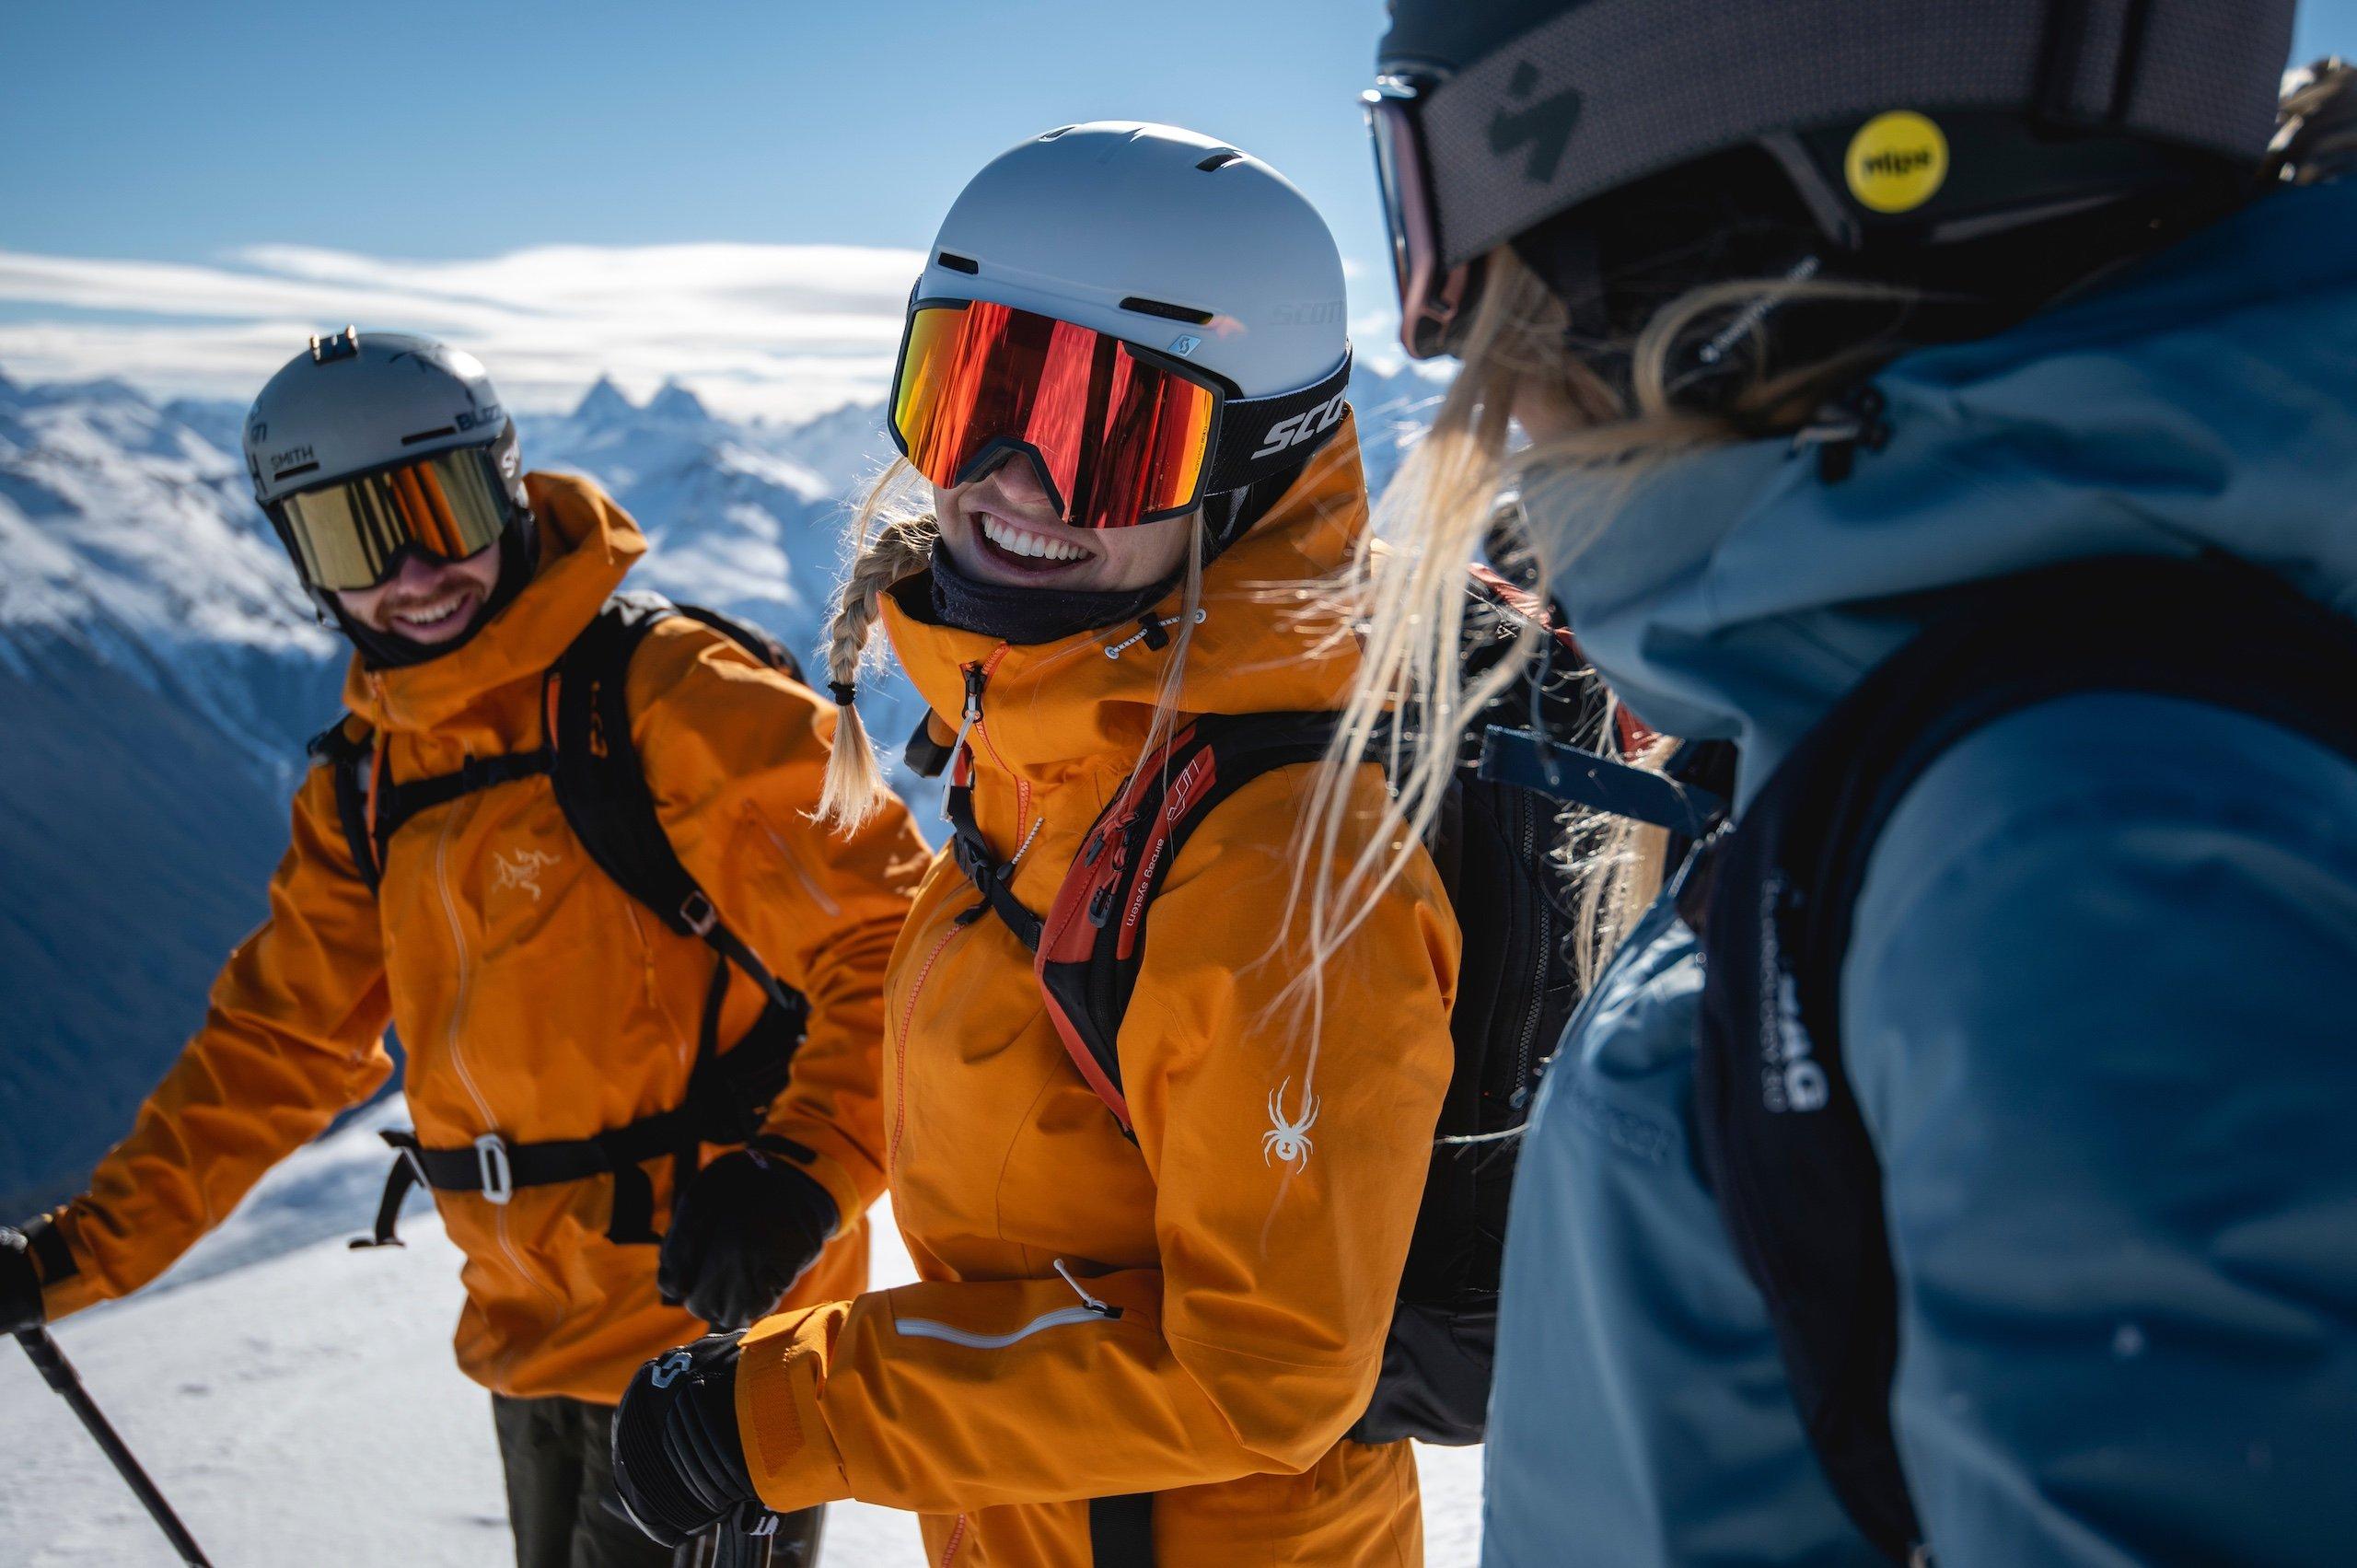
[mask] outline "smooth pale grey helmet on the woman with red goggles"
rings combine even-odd
[[[1200,365],[1263,398],[1351,351],[1341,252],[1285,174],[1174,125],[1065,125],[940,222],[917,299],[988,299]]]

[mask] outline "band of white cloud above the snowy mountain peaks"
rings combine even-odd
[[[603,373],[686,382],[735,417],[882,396],[924,257],[860,245],[535,245],[410,262],[255,245],[219,266],[0,250],[0,370],[250,398],[311,332],[415,330],[474,351],[509,403]],[[45,314],[54,311],[54,314]]]

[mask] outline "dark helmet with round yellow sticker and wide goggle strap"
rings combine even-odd
[[[1426,207],[1405,238],[1393,212],[1402,297],[1414,257],[1447,328],[1492,248],[1735,149],[1829,255],[1966,245],[2194,165],[2249,177],[2291,21],[2293,0],[1393,0],[1379,94],[1412,99]]]

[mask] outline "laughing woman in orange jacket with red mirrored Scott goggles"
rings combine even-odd
[[[1452,1068],[1431,863],[1296,1007],[1318,766],[1249,778],[1169,863],[1105,1059],[1044,1007],[1023,934],[1141,757],[1348,691],[1355,644],[1301,615],[1367,516],[1346,377],[1334,241],[1235,149],[1065,127],[945,219],[891,406],[907,462],[832,644],[849,710],[882,618],[955,752],[959,846],[886,979],[884,1167],[919,1283],[648,1365],[615,1464],[662,1540],[858,1497],[919,1511],[950,1568],[1421,1561],[1409,1445],[1343,1434]],[[863,757],[834,757],[846,823]],[[1197,785],[1169,780],[1171,821]],[[1381,771],[1353,788],[1372,818]]]

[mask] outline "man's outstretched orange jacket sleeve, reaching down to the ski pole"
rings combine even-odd
[[[377,901],[351,865],[328,769],[295,795],[269,898],[269,920],[212,983],[205,1026],[90,1191],[59,1210],[78,1273],[47,1283],[52,1318],[153,1280],[271,1165],[391,1075]]]

